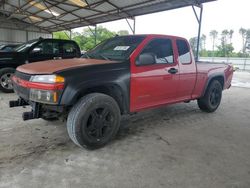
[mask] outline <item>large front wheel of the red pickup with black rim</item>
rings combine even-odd
[[[88,94],[71,109],[67,130],[76,145],[96,149],[115,137],[120,119],[120,108],[112,97],[101,93]]]

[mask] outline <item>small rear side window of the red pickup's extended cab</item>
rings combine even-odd
[[[177,48],[179,53],[179,62],[181,64],[191,63],[191,53],[185,40],[177,40]]]

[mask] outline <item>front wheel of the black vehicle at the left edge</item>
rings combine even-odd
[[[11,76],[14,74],[15,69],[3,68],[0,70],[0,91],[4,93],[13,93],[13,86]]]

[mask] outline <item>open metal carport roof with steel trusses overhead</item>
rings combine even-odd
[[[21,22],[23,30],[47,33],[129,18],[134,20],[134,32],[135,16],[187,6],[193,7],[201,26],[202,3],[210,1],[214,0],[0,0],[0,18]]]

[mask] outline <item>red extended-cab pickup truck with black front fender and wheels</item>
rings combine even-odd
[[[190,100],[214,112],[232,76],[230,65],[195,62],[184,38],[117,36],[84,58],[18,67],[12,79],[20,98],[10,107],[31,105],[23,120],[67,119],[75,144],[98,148],[116,135],[123,114]]]

